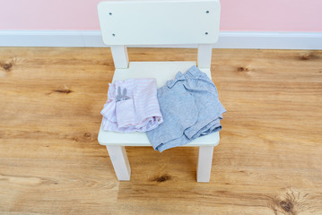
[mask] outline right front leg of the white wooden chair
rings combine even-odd
[[[209,182],[212,172],[213,146],[200,146],[198,166],[196,169],[197,182]]]

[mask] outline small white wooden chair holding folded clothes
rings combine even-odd
[[[155,78],[158,88],[184,73],[196,62],[128,62],[126,45],[197,44],[197,66],[211,78],[212,44],[218,39],[219,0],[100,2],[103,41],[109,45],[115,64],[113,82],[130,78]],[[145,133],[114,133],[102,130],[98,141],[106,145],[118,180],[130,180],[126,146],[152,146]],[[219,133],[212,133],[185,146],[199,147],[197,182],[209,182],[213,147]]]

